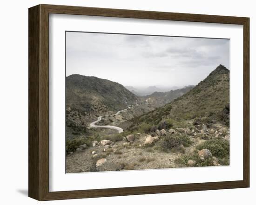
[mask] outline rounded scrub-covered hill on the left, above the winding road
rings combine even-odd
[[[125,109],[135,102],[137,97],[119,83],[77,74],[66,78],[67,109],[101,114]]]

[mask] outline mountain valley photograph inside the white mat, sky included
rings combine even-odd
[[[66,173],[229,166],[230,39],[66,31]]]

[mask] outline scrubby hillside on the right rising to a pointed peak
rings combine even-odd
[[[227,109],[229,112],[228,104],[229,70],[225,66],[219,65],[208,77],[183,96],[163,107],[133,118],[130,129],[135,130],[141,126],[157,126],[162,122],[182,123],[196,117],[209,117],[217,121],[225,118],[227,121],[227,117],[222,115]],[[228,122],[225,123],[228,124]]]

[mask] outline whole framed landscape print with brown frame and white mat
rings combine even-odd
[[[249,187],[249,18],[29,8],[29,197]]]

